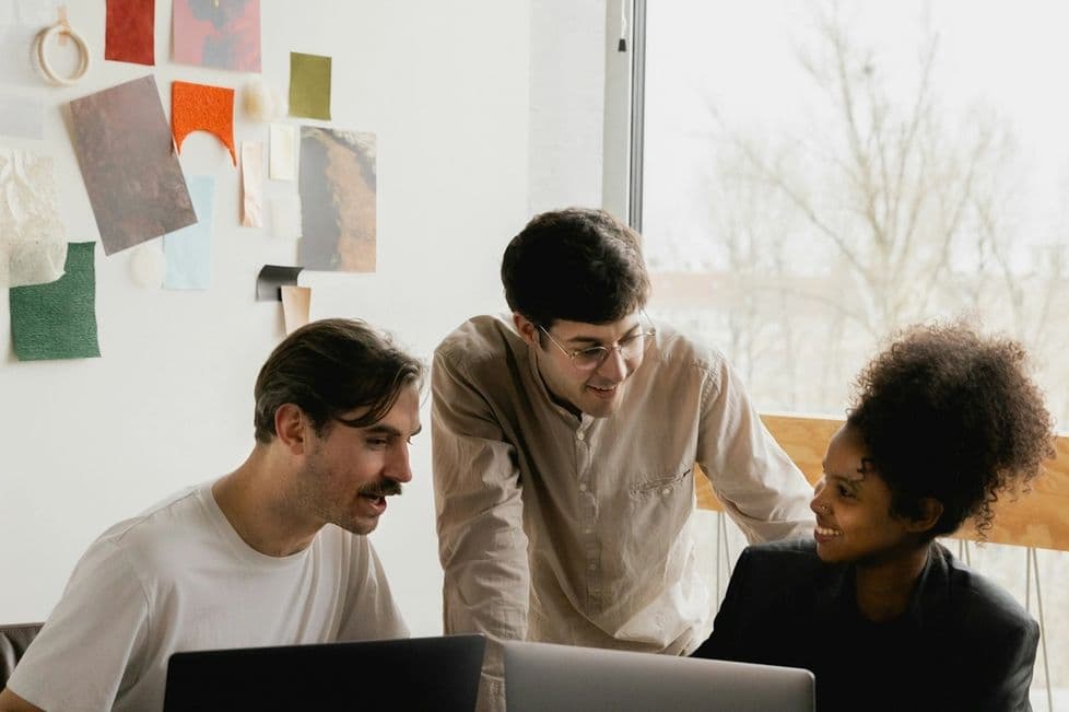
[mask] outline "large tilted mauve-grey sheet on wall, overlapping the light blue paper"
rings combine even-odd
[[[74,151],[105,254],[197,222],[151,74],[70,106]]]

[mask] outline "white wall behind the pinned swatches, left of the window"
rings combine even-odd
[[[103,61],[104,3],[70,4],[93,69],[71,89],[0,85],[48,105],[45,141],[0,142],[55,156],[68,240],[82,242],[98,233],[60,106],[151,71],[169,115],[172,80],[247,77],[172,63],[169,0],[156,3],[155,68]],[[504,307],[501,252],[533,210],[600,199],[603,2],[261,7],[265,80],[285,93],[291,50],[332,56],[328,126],[378,135],[378,271],[303,273],[313,317],[366,318],[430,358],[463,318]],[[235,138],[266,141],[267,129],[238,112]],[[25,363],[0,291],[0,622],[46,617],[101,530],[230,471],[251,446],[252,381],[283,336],[278,303],[252,299],[256,275],[293,264],[295,245],[237,226],[238,174],[214,138],[190,136],[180,160],[216,179],[210,290],[138,288],[130,253],[97,246],[103,357]],[[296,189],[267,183],[268,196]],[[415,634],[440,631],[427,432],[415,479],[372,535]]]

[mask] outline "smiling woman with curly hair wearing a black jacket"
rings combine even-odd
[[[810,669],[821,711],[1031,710],[1036,622],[936,537],[983,536],[1053,439],[1019,343],[906,329],[858,376],[813,538],[747,548],[694,655]]]

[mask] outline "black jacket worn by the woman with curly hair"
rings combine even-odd
[[[1031,710],[1039,628],[1002,588],[932,544],[908,609],[873,623],[854,597],[854,570],[826,564],[812,539],[748,547],[713,634],[694,652],[804,667],[817,708]]]

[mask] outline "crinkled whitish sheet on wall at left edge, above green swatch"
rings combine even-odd
[[[56,281],[66,260],[51,157],[0,147],[0,288]]]

